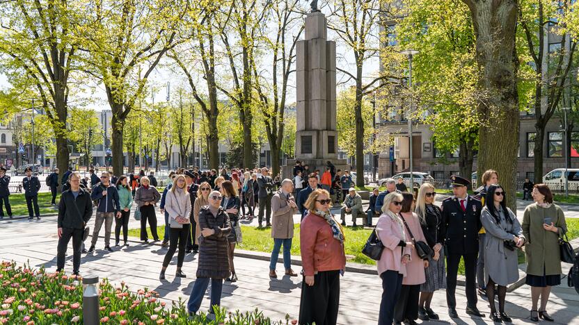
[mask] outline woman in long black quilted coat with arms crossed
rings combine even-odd
[[[200,186],[204,188],[206,185]],[[205,296],[205,291],[211,280],[211,311],[208,319],[215,319],[213,306],[221,306],[221,290],[223,279],[230,276],[227,237],[232,231],[229,216],[221,208],[221,193],[213,191],[209,194],[209,205],[199,211],[199,256],[197,264],[197,279],[187,302],[189,315],[197,313]]]

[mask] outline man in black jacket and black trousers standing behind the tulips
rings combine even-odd
[[[88,191],[80,187],[81,175],[70,175],[70,190],[61,194],[58,203],[58,248],[56,272],[64,269],[66,247],[72,238],[72,274],[79,275],[84,227],[93,215],[93,203]]]

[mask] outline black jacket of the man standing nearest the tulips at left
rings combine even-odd
[[[92,215],[93,201],[88,191],[81,188],[77,199],[74,199],[70,190],[61,194],[61,201],[58,202],[58,228],[82,229]]]

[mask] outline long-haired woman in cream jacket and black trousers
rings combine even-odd
[[[169,233],[169,250],[163,260],[163,268],[159,275],[159,280],[165,279],[165,270],[167,269],[171,258],[177,250],[177,243],[179,246],[179,253],[177,254],[177,273],[175,276],[185,278],[185,274],[181,271],[183,260],[185,258],[185,244],[187,244],[187,235],[189,235],[189,227],[191,227],[191,200],[189,200],[189,192],[185,188],[185,176],[177,175],[173,179],[173,187],[167,193],[165,199],[165,211],[169,215],[170,233]]]

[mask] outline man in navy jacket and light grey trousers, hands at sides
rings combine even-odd
[[[100,183],[95,185],[93,193],[90,194],[90,199],[96,202],[97,215],[95,219],[95,229],[93,230],[93,240],[90,243],[88,253],[95,251],[95,244],[99,238],[99,231],[104,223],[104,249],[106,251],[113,251],[111,249],[111,227],[113,226],[113,219],[120,218],[120,203],[118,201],[117,188],[111,185],[111,174],[109,172],[102,172],[100,175]]]

